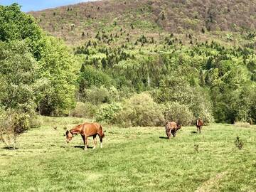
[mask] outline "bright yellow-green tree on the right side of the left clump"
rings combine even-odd
[[[68,114],[75,107],[76,63],[69,50],[55,38],[46,38],[39,60],[41,78],[46,80],[41,94],[37,95],[41,114]]]

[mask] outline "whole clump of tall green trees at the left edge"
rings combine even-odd
[[[75,106],[76,60],[46,37],[20,6],[0,6],[1,105],[41,114],[68,114]],[[72,65],[70,65],[72,63]]]

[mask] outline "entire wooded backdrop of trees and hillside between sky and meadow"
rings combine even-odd
[[[29,13],[35,20],[0,6],[0,110],[127,127],[256,123],[255,9],[95,1]]]

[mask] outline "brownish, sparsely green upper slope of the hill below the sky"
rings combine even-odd
[[[226,41],[236,34],[235,43],[255,31],[255,0],[107,0],[62,6],[29,13],[53,36],[79,44],[97,31],[117,32],[120,28],[136,36],[159,33],[191,33],[198,40]],[[239,36],[240,35],[240,36]]]

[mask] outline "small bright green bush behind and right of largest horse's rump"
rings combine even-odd
[[[116,102],[102,105],[96,114],[96,121],[114,124],[114,117],[120,110],[122,110],[122,105]]]

